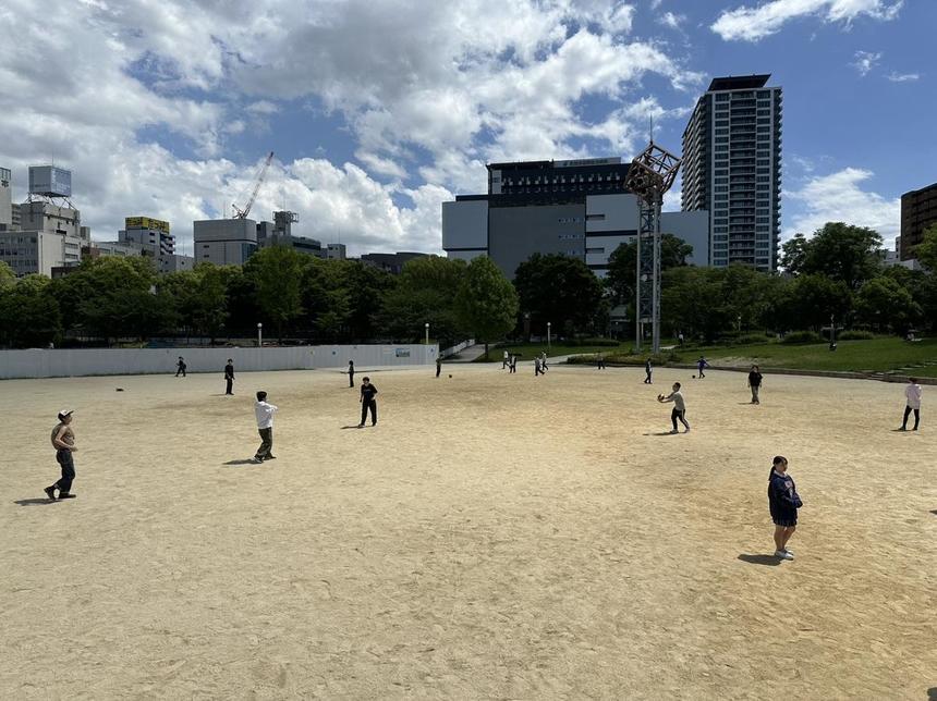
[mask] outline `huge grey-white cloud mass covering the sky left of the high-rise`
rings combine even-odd
[[[352,251],[438,250],[439,202],[483,192],[487,160],[628,157],[648,113],[677,119],[642,82],[683,98],[702,75],[633,37],[634,14],[621,0],[4,0],[0,160],[17,196],[28,164],[71,168],[99,239],[151,214],[184,243],[250,188],[256,164],[232,142],[306,103],[351,148],[291,153],[254,212],[285,199],[300,233]],[[591,99],[607,107],[586,119]]]

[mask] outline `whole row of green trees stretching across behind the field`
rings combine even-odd
[[[838,327],[906,333],[937,323],[937,276],[886,267],[881,236],[828,223],[782,246],[783,273],[686,265],[692,248],[661,242],[665,333],[715,341],[745,333]],[[917,247],[937,270],[937,226]],[[293,343],[417,342],[430,324],[446,347],[553,333],[609,334],[612,310],[633,319],[636,245],[620,246],[599,280],[581,259],[536,254],[509,282],[488,258],[436,256],[391,275],[356,260],[323,260],[288,247],[243,267],[198,263],[158,275],[144,258],[84,260],[68,275],[16,280],[0,262],[0,346],[110,345],[157,337],[209,342],[265,335]],[[628,332],[630,333],[630,332]]]

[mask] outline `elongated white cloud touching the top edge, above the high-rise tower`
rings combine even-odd
[[[818,15],[824,22],[849,26],[861,16],[889,21],[898,16],[904,0],[770,0],[756,8],[723,11],[709,27],[730,40],[758,41],[780,32],[799,17]]]

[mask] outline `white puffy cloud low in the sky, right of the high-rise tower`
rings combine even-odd
[[[796,202],[799,210],[792,217],[783,237],[801,232],[811,235],[830,221],[841,221],[874,229],[887,243],[901,233],[901,198],[889,199],[862,188],[874,175],[872,171],[845,168],[829,175],[812,177],[796,190],[784,192],[787,199]],[[890,244],[889,244],[890,245]]]

